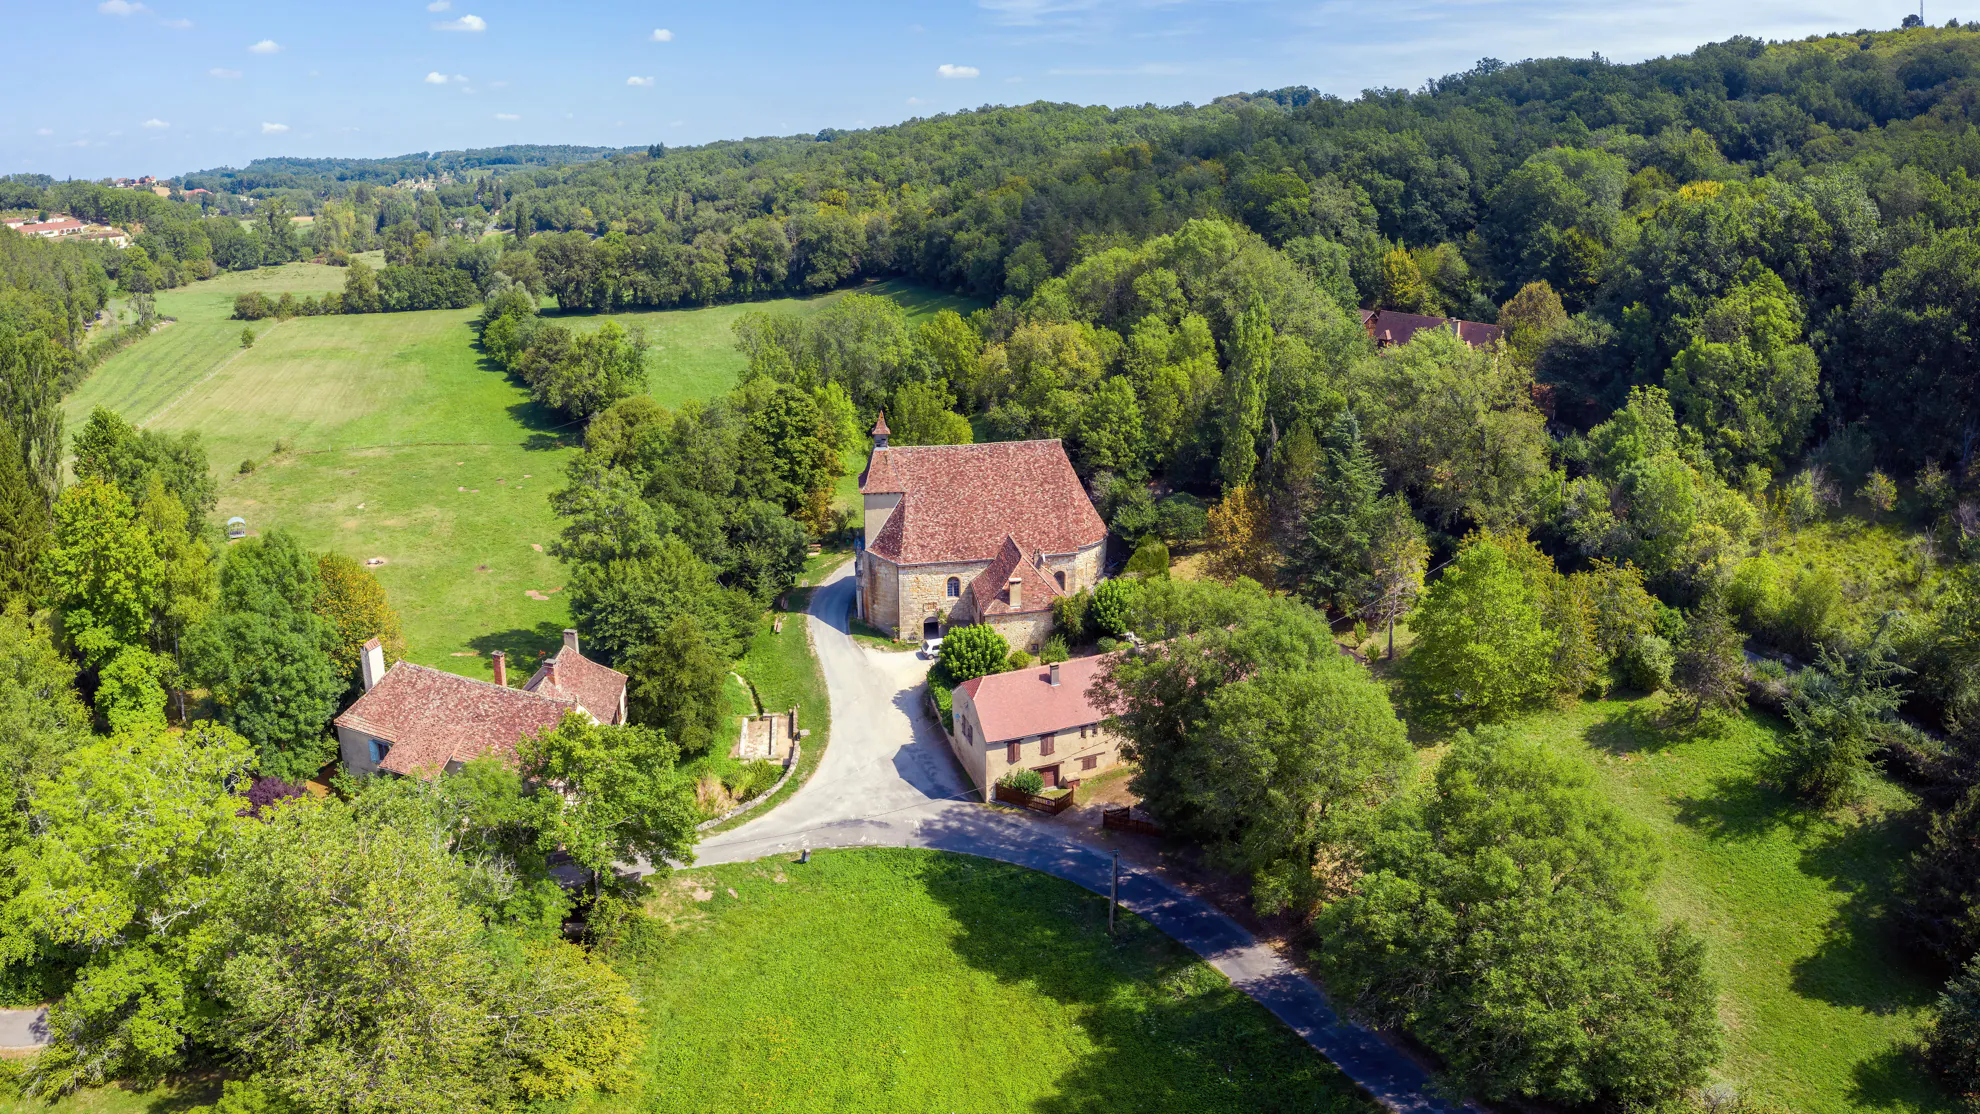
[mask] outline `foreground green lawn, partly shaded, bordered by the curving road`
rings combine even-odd
[[[705,894],[703,900],[695,900]],[[960,855],[826,851],[675,875],[618,964],[638,1090],[584,1112],[1372,1112],[1319,1053],[1103,898]]]

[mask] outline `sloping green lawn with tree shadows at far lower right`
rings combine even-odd
[[[1806,1114],[1950,1110],[1907,1055],[1938,977],[1887,932],[1917,833],[1879,784],[1861,809],[1816,817],[1760,784],[1770,716],[1695,738],[1655,724],[1657,698],[1588,702],[1513,730],[1586,754],[1626,813],[1661,837],[1651,898],[1697,928],[1721,987],[1719,1074]]]

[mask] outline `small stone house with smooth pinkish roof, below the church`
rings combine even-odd
[[[1121,764],[1119,738],[1087,689],[1109,655],[992,673],[954,693],[948,748],[988,801],[1012,770],[1038,770],[1045,788],[1091,778]]]

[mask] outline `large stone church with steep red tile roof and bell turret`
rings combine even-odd
[[[990,623],[1014,649],[1051,635],[1051,602],[1101,580],[1107,524],[1059,441],[887,445],[859,475],[859,617],[897,639]]]

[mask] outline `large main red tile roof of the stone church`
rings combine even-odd
[[[873,449],[861,495],[901,493],[867,550],[895,564],[992,560],[1004,538],[1069,554],[1107,538],[1059,441]]]

